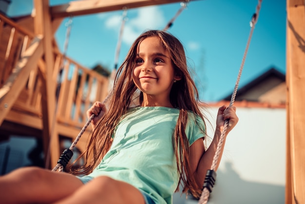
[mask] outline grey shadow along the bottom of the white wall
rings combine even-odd
[[[284,185],[245,181],[232,165],[227,162],[225,171],[217,171],[216,184],[208,204],[285,204]],[[173,204],[198,204],[198,201],[190,197],[186,200],[185,195],[175,193]]]

